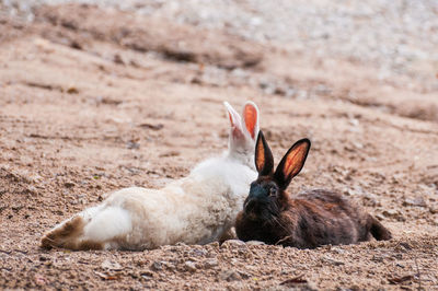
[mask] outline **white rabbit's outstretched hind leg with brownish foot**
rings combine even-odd
[[[43,236],[41,246],[73,251],[118,248],[119,242],[130,230],[131,221],[126,210],[99,206],[55,226]]]

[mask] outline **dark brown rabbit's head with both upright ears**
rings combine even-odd
[[[263,132],[260,131],[255,146],[255,167],[258,177],[251,184],[243,210],[254,220],[269,221],[287,206],[286,188],[300,173],[310,150],[310,140],[297,141],[281,159],[274,172],[274,158]]]

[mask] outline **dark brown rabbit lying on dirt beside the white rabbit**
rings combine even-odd
[[[274,158],[260,131],[255,148],[258,178],[251,184],[235,231],[242,241],[262,241],[298,248],[390,240],[391,233],[372,216],[353,206],[341,195],[311,190],[296,197],[286,191],[300,173],[310,150],[310,140],[297,141],[274,172]]]

